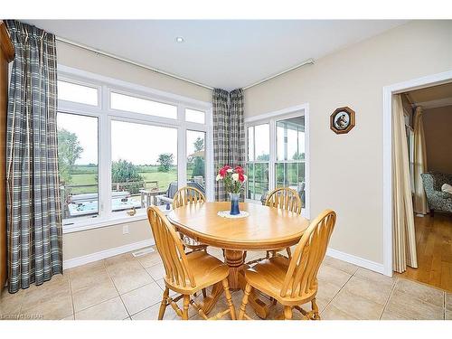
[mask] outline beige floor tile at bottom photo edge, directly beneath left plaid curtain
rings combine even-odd
[[[71,294],[40,300],[39,303],[22,307],[21,314],[25,318],[60,320],[73,313]]]

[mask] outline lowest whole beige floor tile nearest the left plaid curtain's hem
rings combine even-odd
[[[108,280],[81,288],[78,291],[73,291],[72,297],[74,300],[75,312],[80,312],[90,306],[95,306],[113,297],[118,297],[118,291],[113,285],[113,282]]]

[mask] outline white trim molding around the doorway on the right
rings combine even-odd
[[[392,95],[452,81],[452,71],[385,86],[383,96],[383,274],[392,276]]]

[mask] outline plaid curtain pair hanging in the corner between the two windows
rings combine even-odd
[[[223,165],[245,165],[243,90],[213,89],[213,159],[215,174]],[[215,184],[215,200],[227,198],[222,182]]]

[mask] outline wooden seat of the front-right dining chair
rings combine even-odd
[[[286,297],[281,297],[281,289],[287,275],[290,259],[286,257],[273,257],[259,261],[256,265],[245,271],[247,282],[259,291],[274,297],[282,305],[302,305],[310,301],[317,292],[317,282],[315,288],[301,297],[290,297],[291,290],[287,290]],[[298,294],[298,293],[297,293]]]

